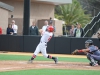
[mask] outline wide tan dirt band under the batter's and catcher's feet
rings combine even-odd
[[[54,64],[53,61],[34,61],[29,64],[27,61],[0,61],[0,72],[28,70],[28,69],[72,69],[72,70],[100,70],[100,66],[92,67],[88,63],[79,62],[59,62]]]

